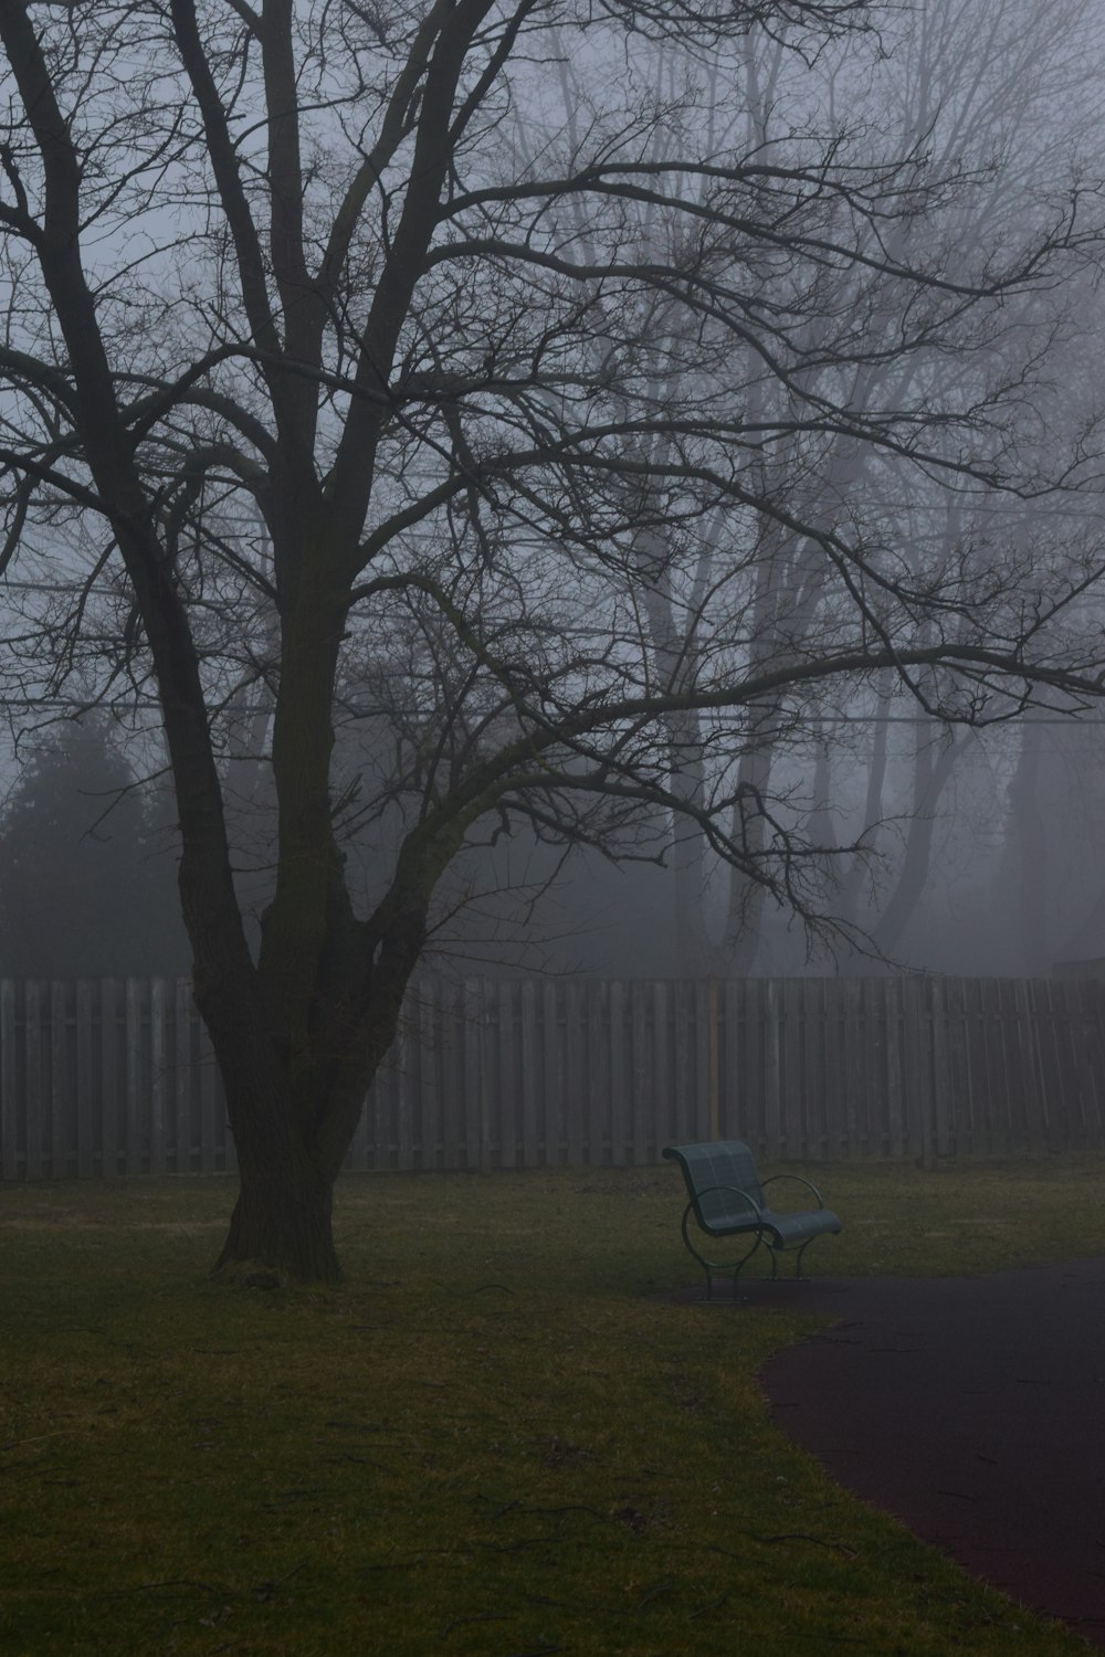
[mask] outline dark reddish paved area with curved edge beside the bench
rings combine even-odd
[[[966,1571],[1105,1647],[1105,1259],[749,1281],[736,1302],[719,1284],[714,1304],[833,1317],[762,1365],[775,1425]]]

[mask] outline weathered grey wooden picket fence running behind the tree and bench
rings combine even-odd
[[[1105,1152],[1105,981],[422,978],[350,1170]],[[187,979],[0,981],[0,1178],[234,1168]]]

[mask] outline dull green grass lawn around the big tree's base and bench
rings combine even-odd
[[[1102,1162],[800,1171],[813,1273],[1105,1253]],[[823,1321],[664,1299],[681,1191],[348,1178],[348,1284],[267,1291],[207,1276],[224,1180],[0,1186],[0,1650],[1085,1652],[775,1432]]]

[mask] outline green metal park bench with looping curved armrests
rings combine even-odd
[[[777,1276],[777,1254],[797,1244],[794,1274],[800,1278],[802,1256],[813,1238],[825,1231],[840,1231],[840,1220],[832,1208],[825,1208],[822,1193],[808,1180],[797,1173],[775,1173],[760,1183],[752,1152],[744,1140],[668,1145],[664,1157],[676,1160],[683,1168],[691,1198],[683,1211],[683,1241],[706,1271],[706,1299],[712,1297],[716,1271],[732,1271],[732,1292],[736,1296],[741,1268],[752,1259],[760,1243],[767,1243],[770,1249],[772,1278]],[[795,1180],[803,1185],[817,1198],[817,1208],[775,1213],[774,1208],[767,1206],[764,1191],[779,1180]],[[707,1259],[691,1241],[691,1220],[707,1238],[752,1236],[752,1248],[741,1256],[736,1266],[721,1266],[717,1261]]]

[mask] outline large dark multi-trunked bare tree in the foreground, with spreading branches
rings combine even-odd
[[[744,96],[754,33],[808,63],[871,15],[0,0],[5,558],[70,580],[10,661],[23,693],[50,646],[55,693],[159,699],[240,1165],[222,1261],[336,1274],[335,1176],[434,893],[489,824],[648,855],[674,812],[815,925],[823,860],[736,764],[765,729],[883,673],[949,721],[1097,694],[1077,548],[997,580],[825,484],[871,452],[1045,487],[1004,418],[1024,368],[966,393],[906,370],[1097,245],[1072,189],[953,260],[924,224],[958,179],[923,143],[871,161],[812,103],[777,151],[711,124],[702,76]],[[858,398],[891,316],[901,373]],[[779,537],[802,552],[765,655]],[[366,713],[401,716],[359,799],[333,761],[353,656],[393,664]],[[262,679],[253,949],[220,754]],[[340,822],[373,789],[403,832],[358,908]]]

